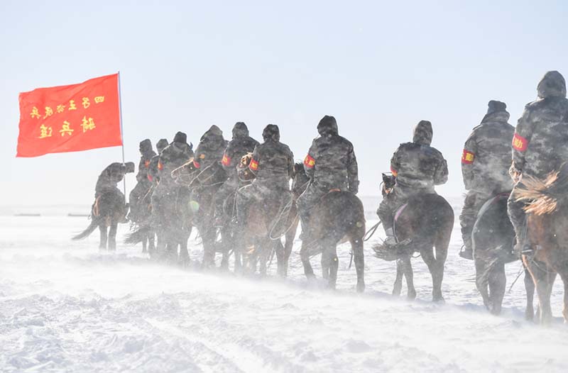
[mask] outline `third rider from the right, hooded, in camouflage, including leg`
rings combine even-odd
[[[415,194],[435,194],[435,185],[448,179],[447,162],[432,143],[432,123],[420,121],[414,128],[413,142],[400,144],[391,158],[391,172],[396,178],[393,190],[383,198],[377,215],[386,233],[386,245],[394,245],[393,213]]]

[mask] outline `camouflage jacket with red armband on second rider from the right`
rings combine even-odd
[[[508,170],[515,128],[507,123],[508,119],[507,111],[487,114],[467,138],[461,155],[461,174],[467,190],[491,194],[513,188]]]

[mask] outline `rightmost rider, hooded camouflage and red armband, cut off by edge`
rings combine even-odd
[[[508,200],[508,214],[515,234],[515,251],[531,252],[525,243],[524,201],[515,201],[515,190],[523,188],[523,177],[545,179],[568,162],[568,99],[566,82],[557,71],[545,74],[537,87],[538,99],[525,106],[513,138],[510,175],[515,187]]]

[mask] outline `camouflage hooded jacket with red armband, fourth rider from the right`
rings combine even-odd
[[[359,191],[359,172],[353,145],[338,134],[337,122],[325,116],[317,126],[319,138],[312,142],[304,160],[306,174],[322,189]]]

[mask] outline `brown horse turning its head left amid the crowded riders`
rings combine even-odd
[[[171,176],[176,183],[188,187],[191,191],[189,204],[192,209],[192,224],[199,230],[203,243],[202,267],[214,267],[216,252],[222,252],[222,267],[226,267],[229,252],[216,242],[217,230],[214,227],[215,193],[226,180],[226,172],[221,162],[198,169],[191,159],[174,169]]]

